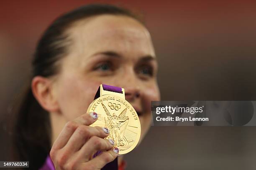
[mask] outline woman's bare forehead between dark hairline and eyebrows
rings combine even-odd
[[[115,51],[153,55],[148,30],[137,20],[121,15],[99,15],[87,18],[69,29],[72,51],[92,55],[94,52]]]

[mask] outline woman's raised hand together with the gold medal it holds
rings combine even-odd
[[[56,169],[117,170],[116,157],[133,150],[140,135],[140,120],[124,89],[100,85],[87,113],[67,122],[50,156]]]

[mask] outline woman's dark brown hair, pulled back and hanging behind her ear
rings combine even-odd
[[[20,102],[13,107],[13,147],[15,160],[26,160],[31,169],[40,168],[51,149],[51,125],[49,113],[44,110],[31,90],[32,77],[49,77],[58,73],[57,61],[67,55],[69,36],[65,31],[72,23],[96,15],[124,15],[142,21],[130,11],[113,5],[92,4],[66,13],[46,29],[36,47],[32,62],[32,76],[28,86],[20,95]]]

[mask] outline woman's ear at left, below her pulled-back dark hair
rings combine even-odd
[[[36,100],[48,112],[59,112],[59,104],[54,95],[53,83],[46,77],[36,76],[31,82],[31,89]]]

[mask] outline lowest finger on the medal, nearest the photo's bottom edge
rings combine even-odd
[[[97,157],[93,158],[92,160],[88,161],[87,163],[82,163],[82,168],[92,167],[92,169],[101,169],[107,163],[112,162],[118,156],[119,149],[113,148],[111,150],[102,152]]]

